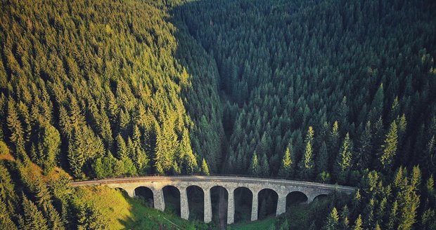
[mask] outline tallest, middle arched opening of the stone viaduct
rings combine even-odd
[[[212,221],[219,222],[219,226],[227,224],[227,202],[229,192],[221,186],[210,189],[210,203],[212,204]]]

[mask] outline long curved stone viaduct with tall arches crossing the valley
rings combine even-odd
[[[316,196],[331,194],[333,191],[352,194],[353,187],[344,187],[333,184],[321,184],[315,182],[300,182],[293,180],[275,180],[267,178],[252,177],[229,177],[229,176],[158,176],[158,177],[127,177],[114,178],[106,180],[89,180],[83,182],[72,182],[71,186],[86,185],[107,185],[111,188],[120,188],[127,191],[129,196],[135,196],[135,190],[139,187],[146,187],[153,191],[154,208],[165,210],[165,200],[162,189],[167,186],[173,186],[180,192],[180,214],[181,218],[188,219],[189,206],[186,189],[191,186],[197,186],[204,192],[204,221],[206,223],[212,220],[212,204],[210,198],[210,189],[212,187],[223,187],[228,192],[227,201],[227,224],[233,224],[235,214],[235,201],[233,191],[240,187],[250,189],[252,192],[252,210],[251,220],[257,220],[258,194],[263,189],[271,189],[278,195],[276,215],[286,212],[286,196],[293,191],[301,192],[307,196],[307,203],[314,201]]]

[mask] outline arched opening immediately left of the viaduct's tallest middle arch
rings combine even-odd
[[[191,185],[186,188],[189,206],[189,219],[203,221],[205,210],[205,192],[202,188]]]

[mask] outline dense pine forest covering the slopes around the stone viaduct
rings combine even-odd
[[[191,174],[357,188],[271,229],[436,229],[434,1],[0,6],[0,229],[135,229],[68,183]]]

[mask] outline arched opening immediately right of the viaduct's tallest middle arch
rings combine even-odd
[[[235,223],[249,222],[251,220],[251,207],[253,194],[250,189],[239,187],[233,191],[235,202]]]

